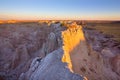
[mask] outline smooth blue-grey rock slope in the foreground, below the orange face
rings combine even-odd
[[[44,59],[34,59],[26,73],[19,80],[83,80],[78,74],[70,72],[67,64],[61,62],[62,48],[48,54]]]

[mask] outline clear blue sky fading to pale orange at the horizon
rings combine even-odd
[[[0,0],[0,20],[120,20],[120,0]]]

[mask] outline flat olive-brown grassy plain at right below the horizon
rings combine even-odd
[[[96,29],[103,34],[114,36],[113,39],[120,42],[120,23],[91,23],[86,26],[89,29]]]

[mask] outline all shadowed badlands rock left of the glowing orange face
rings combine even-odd
[[[83,80],[62,62],[60,23],[0,25],[0,78],[3,80]],[[46,76],[48,75],[48,76]]]

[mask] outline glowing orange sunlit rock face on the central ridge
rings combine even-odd
[[[72,70],[72,61],[70,52],[80,43],[80,41],[84,41],[84,34],[82,32],[82,26],[78,26],[75,23],[69,24],[68,29],[62,32],[63,39],[63,49],[64,55],[62,58],[63,62],[67,62],[71,71]]]

